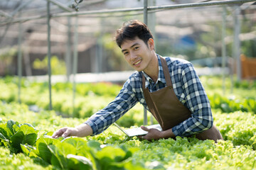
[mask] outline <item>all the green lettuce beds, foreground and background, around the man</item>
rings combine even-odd
[[[18,104],[17,80],[0,79],[0,167],[256,169],[256,83],[236,82],[233,95],[224,96],[218,77],[202,77],[201,80],[210,99],[214,123],[224,138],[217,143],[194,137],[149,142],[138,137],[127,137],[115,126],[96,136],[53,139],[50,136],[58,128],[79,125],[106,106],[118,94],[121,86],[78,84],[73,110],[72,84],[54,84],[54,111],[47,111],[48,84],[23,79],[23,104]],[[226,85],[229,86],[229,82],[226,81]],[[142,125],[142,112],[142,106],[137,104],[118,120],[119,125]],[[60,113],[68,118],[58,115]],[[76,118],[70,118],[71,115]]]

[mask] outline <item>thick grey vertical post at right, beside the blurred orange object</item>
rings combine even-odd
[[[237,67],[237,77],[238,81],[241,80],[242,74],[241,74],[241,60],[240,60],[240,21],[239,21],[239,15],[240,15],[240,6],[235,7],[235,13],[234,13],[234,57],[236,58],[236,67]]]

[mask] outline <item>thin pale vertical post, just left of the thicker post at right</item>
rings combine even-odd
[[[223,6],[223,22],[222,22],[222,50],[221,50],[221,55],[222,55],[222,72],[223,72],[223,94],[225,94],[225,65],[226,65],[226,46],[225,46],[225,36],[226,36],[226,6]]]

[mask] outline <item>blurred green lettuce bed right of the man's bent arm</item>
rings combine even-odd
[[[245,111],[256,113],[256,81],[237,81],[234,79],[233,94],[229,77],[225,79],[225,95],[223,95],[222,77],[201,77],[210,100],[211,108],[220,109],[223,113]]]

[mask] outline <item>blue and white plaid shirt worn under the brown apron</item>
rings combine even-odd
[[[125,82],[114,101],[92,115],[85,122],[92,128],[93,135],[100,134],[106,130],[138,102],[149,110],[142,91],[142,74],[146,78],[145,86],[149,88],[150,92],[166,86],[161,60],[159,55],[157,57],[159,61],[159,77],[156,84],[144,72],[134,72]],[[164,58],[169,68],[174,93],[178,100],[192,113],[191,118],[172,128],[174,135],[185,137],[211,128],[213,116],[210,110],[210,103],[206,91],[203,89],[201,81],[193,68],[193,64],[173,57]]]

